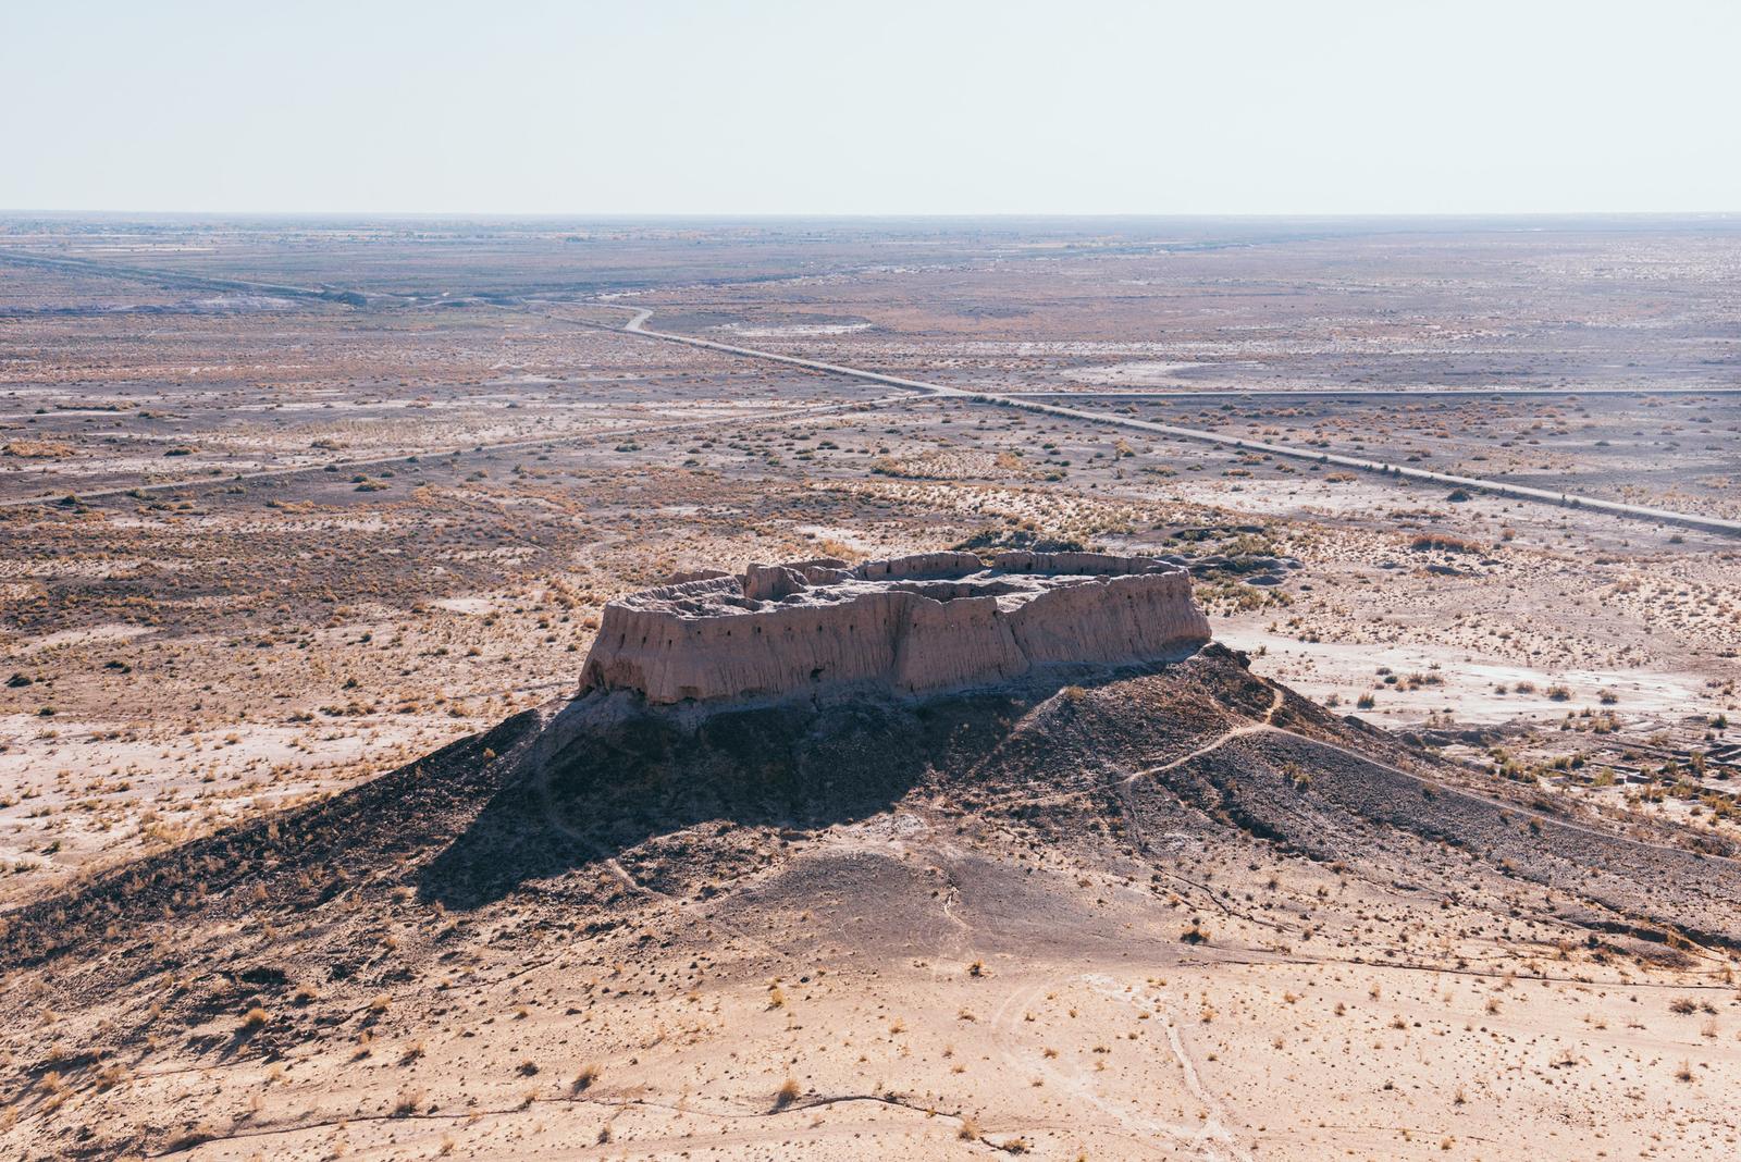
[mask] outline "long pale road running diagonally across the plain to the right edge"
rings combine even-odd
[[[1645,504],[1626,504],[1623,501],[1603,501],[1593,496],[1577,496],[1574,492],[1551,492],[1548,489],[1530,489],[1518,484],[1504,484],[1501,480],[1482,480],[1478,477],[1461,477],[1449,471],[1429,471],[1426,468],[1410,468],[1407,464],[1391,464],[1379,459],[1361,459],[1358,456],[1339,456],[1334,452],[1320,452],[1316,449],[1292,447],[1287,444],[1267,444],[1260,440],[1245,440],[1240,437],[1222,435],[1219,431],[1205,431],[1201,428],[1180,428],[1177,424],[1160,424],[1149,419],[1135,419],[1130,416],[1118,416],[1109,412],[1088,411],[1083,407],[1065,407],[1062,404],[1043,404],[1034,395],[1005,395],[992,391],[963,391],[961,388],[951,388],[940,383],[924,383],[919,379],[904,379],[900,376],[884,376],[879,371],[864,371],[860,367],[843,367],[841,364],[825,364],[815,358],[801,358],[797,355],[780,355],[776,351],[759,351],[756,348],[735,346],[731,343],[714,343],[712,339],[696,339],[695,336],[676,334],[670,331],[653,331],[646,325],[653,311],[642,306],[622,306],[611,304],[618,310],[630,310],[634,317],[623,325],[623,331],[637,336],[646,336],[649,339],[660,339],[665,343],[681,343],[684,346],[703,348],[709,351],[723,351],[726,355],[742,355],[745,358],[759,358],[773,364],[785,364],[789,367],[804,367],[810,371],[820,371],[830,376],[846,376],[851,379],[867,379],[870,383],[886,383],[897,388],[905,388],[909,391],[918,391],[933,397],[961,398],[971,404],[989,404],[996,407],[1018,407],[1029,412],[1039,412],[1043,416],[1064,416],[1067,419],[1081,419],[1093,424],[1107,424],[1112,428],[1135,428],[1137,431],[1149,431],[1154,435],[1170,437],[1175,440],[1193,440],[1198,444],[1215,444],[1220,447],[1233,447],[1243,452],[1264,452],[1269,456],[1280,456],[1285,459],[1299,459],[1313,464],[1332,464],[1335,468],[1353,468],[1356,471],[1370,471],[1395,480],[1422,480],[1428,484],[1443,484],[1455,489],[1466,489],[1473,492],[1485,492],[1490,496],[1501,496],[1516,501],[1539,501],[1544,504],[1555,504],[1558,508],[1576,508],[1579,511],[1603,513],[1609,517],[1626,517],[1631,520],[1654,520],[1657,524],[1680,525],[1687,529],[1699,529],[1704,532],[1718,532],[1724,536],[1741,538],[1741,520],[1722,520],[1720,517],[1704,517],[1699,513],[1680,513],[1666,508],[1650,508]]]

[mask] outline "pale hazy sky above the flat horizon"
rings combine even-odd
[[[1741,210],[1741,0],[0,2],[0,207]]]

